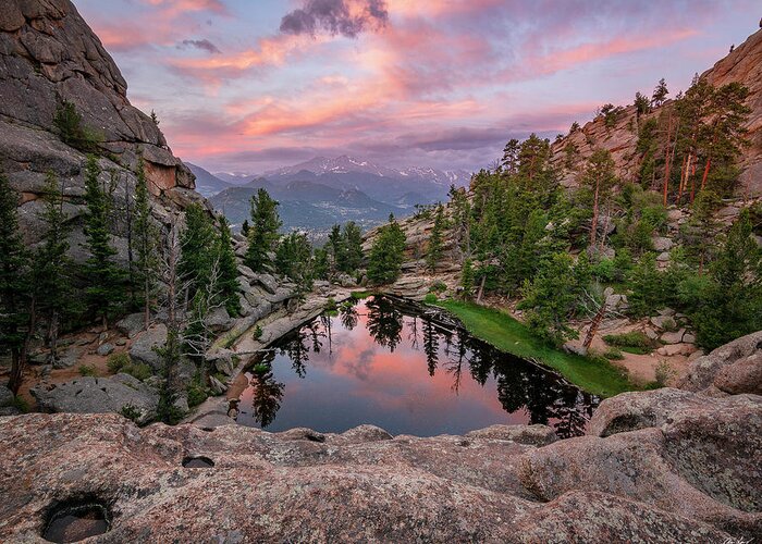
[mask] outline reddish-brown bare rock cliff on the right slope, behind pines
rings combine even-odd
[[[666,75],[668,77],[668,74]],[[750,145],[743,149],[739,159],[742,173],[738,191],[739,196],[762,196],[762,30],[749,36],[742,45],[705,71],[702,77],[714,86],[738,82],[749,89],[746,104],[751,108],[751,114],[746,128],[749,131],[747,137]],[[673,89],[673,95],[676,92],[677,89]],[[641,116],[640,123],[656,118],[664,110],[673,107],[674,102],[668,100],[661,108]],[[636,152],[637,126],[636,109],[634,106],[628,106],[622,111],[614,126],[606,126],[604,118],[599,115],[578,131],[554,143],[553,160],[556,166],[564,170],[563,183],[566,186],[576,186],[577,173],[563,168],[564,149],[567,144],[576,146],[581,160],[590,157],[597,148],[610,150],[616,162],[619,177],[625,181],[636,180],[640,169],[640,157]]]

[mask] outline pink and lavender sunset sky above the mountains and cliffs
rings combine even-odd
[[[759,0],[74,0],[172,150],[218,172],[316,156],[469,171],[672,94]]]

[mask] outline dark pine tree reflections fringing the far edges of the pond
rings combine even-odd
[[[405,349],[409,346],[413,351],[422,351],[421,359],[426,361],[430,379],[434,379],[441,366],[446,375],[452,376],[454,395],[459,394],[463,380],[468,375],[481,387],[492,383],[490,379],[493,379],[497,400],[506,412],[526,413],[528,423],[550,424],[561,437],[585,432],[598,398],[545,369],[499,351],[417,305],[376,296],[361,302],[365,316],[358,312],[359,305],[357,300],[340,305],[337,316],[325,314],[316,319],[286,336],[274,350],[253,361],[254,418],[262,428],[274,421],[285,390],[272,373],[275,353],[287,357],[296,375],[304,379],[310,354],[320,354],[328,346],[330,357],[333,353],[332,336],[336,334],[333,331],[353,331],[360,318],[365,318],[366,331],[377,350],[382,348],[389,353],[401,346],[402,332],[407,325]]]

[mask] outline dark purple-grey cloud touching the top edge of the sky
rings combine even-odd
[[[322,30],[356,38],[364,32],[383,28],[388,22],[385,0],[305,0],[303,8],[283,16],[281,32],[315,36]]]

